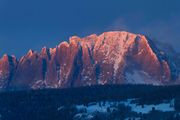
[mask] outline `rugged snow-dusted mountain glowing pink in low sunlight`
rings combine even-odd
[[[124,31],[73,36],[55,48],[0,59],[0,87],[68,88],[104,84],[179,83],[178,53],[144,35]]]

